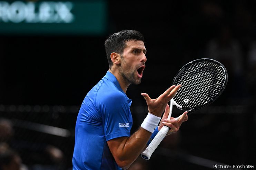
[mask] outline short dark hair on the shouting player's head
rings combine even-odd
[[[122,55],[126,47],[126,43],[130,40],[143,41],[143,35],[136,30],[124,30],[118,33],[114,33],[108,37],[105,41],[105,50],[108,58],[109,68],[113,65],[110,54],[118,53]]]

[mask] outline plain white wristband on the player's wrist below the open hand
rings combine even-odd
[[[144,119],[140,126],[148,132],[153,133],[160,120],[161,117],[157,117],[151,113],[148,113],[147,117]]]

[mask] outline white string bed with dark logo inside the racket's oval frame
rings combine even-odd
[[[225,83],[225,72],[219,65],[203,61],[184,69],[174,84],[182,84],[174,97],[183,107],[196,107],[213,99]],[[184,99],[189,102],[185,103]]]

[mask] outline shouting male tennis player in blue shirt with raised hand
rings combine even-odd
[[[179,121],[166,120],[168,102],[180,85],[171,86],[157,99],[142,93],[149,113],[138,130],[130,135],[132,101],[125,93],[131,83],[141,82],[147,61],[144,37],[138,31],[120,31],[106,40],[105,49],[109,70],[87,93],[77,116],[73,170],[127,169],[161,127],[166,125],[170,128],[168,134],[175,133],[187,120],[187,112]]]

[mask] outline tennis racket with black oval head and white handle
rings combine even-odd
[[[170,119],[173,105],[188,111],[188,114],[214,102],[226,87],[228,75],[226,68],[216,60],[202,58],[183,66],[173,79],[173,85],[181,84],[178,92],[170,101]],[[181,115],[176,119],[179,120]],[[169,128],[163,126],[155,138],[142,152],[142,158],[149,160],[152,153],[163,140]]]

